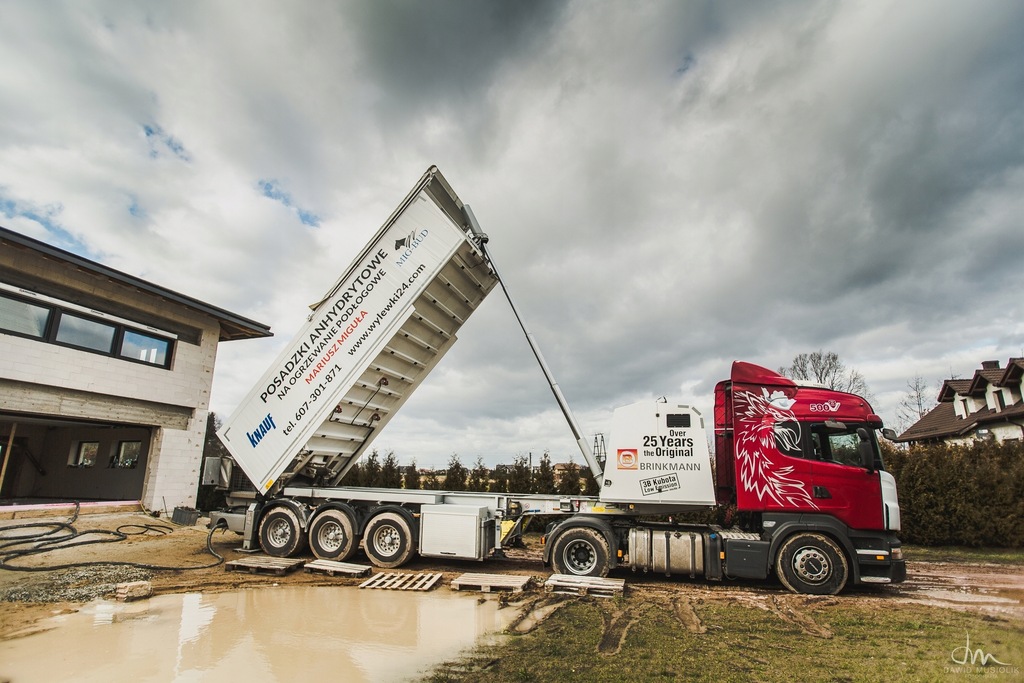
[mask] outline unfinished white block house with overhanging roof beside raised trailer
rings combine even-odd
[[[0,228],[0,503],[194,506],[217,345],[268,336]]]

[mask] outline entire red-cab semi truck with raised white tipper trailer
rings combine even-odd
[[[218,430],[230,457],[208,459],[204,478],[230,490],[211,525],[241,533],[244,550],[346,561],[361,549],[392,568],[417,554],[501,556],[545,515],[543,561],[559,573],[774,574],[808,594],[905,579],[878,440],[892,433],[864,398],[736,361],[715,389],[714,458],[705,416],[665,399],[616,409],[605,449],[592,449],[488,242],[428,169]],[[599,494],[343,485],[499,285]],[[680,521],[716,508],[734,513],[728,528]]]

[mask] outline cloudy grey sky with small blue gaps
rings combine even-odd
[[[229,415],[437,165],[588,439],[837,352],[895,422],[1024,355],[1024,4],[0,2],[0,225],[269,325]],[[378,436],[582,456],[492,296]],[[894,426],[898,426],[895,425]]]

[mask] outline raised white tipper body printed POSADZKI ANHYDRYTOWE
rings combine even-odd
[[[456,340],[497,275],[431,168],[218,432],[263,493],[335,484]]]

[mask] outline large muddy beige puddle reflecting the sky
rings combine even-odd
[[[515,618],[449,591],[274,588],[92,602],[0,642],[0,680],[360,683],[415,677]]]

